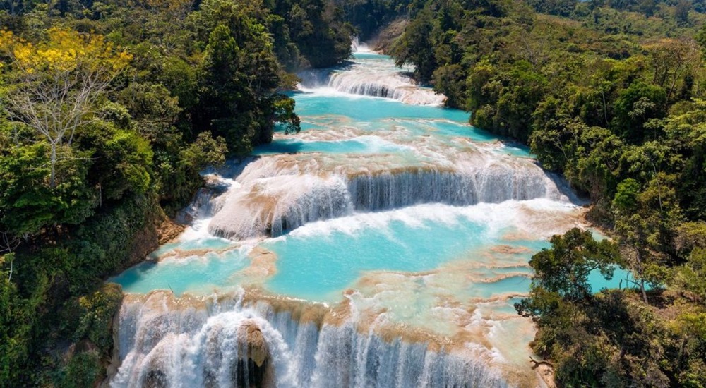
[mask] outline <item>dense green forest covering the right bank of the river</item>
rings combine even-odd
[[[635,274],[637,293],[594,295],[581,280],[593,243],[575,232],[533,258],[518,309],[559,382],[705,387],[704,4],[413,1],[407,12],[388,48],[397,63],[589,195]]]

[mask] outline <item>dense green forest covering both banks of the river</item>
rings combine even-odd
[[[204,166],[299,131],[294,71],[359,35],[590,196],[613,241],[555,236],[517,305],[557,385],[706,387],[705,22],[702,0],[0,1],[0,386],[102,382],[103,279],[178,234]],[[633,289],[592,290],[616,263]]]

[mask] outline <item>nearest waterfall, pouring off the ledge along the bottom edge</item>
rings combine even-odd
[[[185,305],[162,292],[143,303],[121,309],[114,388],[507,386],[481,360],[361,334],[350,322],[298,322],[265,303]]]

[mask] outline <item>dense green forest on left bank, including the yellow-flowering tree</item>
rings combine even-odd
[[[299,131],[296,79],[350,54],[322,0],[0,1],[0,386],[104,377],[121,291],[198,171]]]

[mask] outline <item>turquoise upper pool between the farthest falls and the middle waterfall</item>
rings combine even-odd
[[[514,157],[530,157],[524,145],[503,141],[468,123],[469,114],[457,109],[403,104],[377,97],[328,95],[300,92],[293,95],[302,133],[275,136],[272,143],[255,150],[258,155],[323,153],[388,153],[405,152],[419,146],[420,138],[433,136],[445,147],[458,147],[454,139],[474,143],[496,143],[493,152]],[[331,112],[335,112],[332,114]],[[347,128],[345,139],[306,139],[308,132]],[[306,139],[306,140],[305,140]]]

